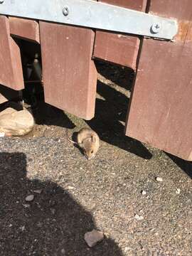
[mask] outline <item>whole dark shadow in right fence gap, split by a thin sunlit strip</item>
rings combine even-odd
[[[107,65],[100,61],[96,62],[98,72],[108,80],[130,90],[134,78],[133,71],[114,65]],[[97,132],[104,142],[112,144],[136,154],[143,159],[151,159],[152,154],[136,139],[124,135],[124,124],[127,117],[129,98],[120,90],[110,85],[97,81],[97,93],[102,99],[96,100],[95,118],[87,121],[87,124]]]

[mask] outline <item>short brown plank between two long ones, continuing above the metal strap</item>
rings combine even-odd
[[[137,11],[145,11],[146,0],[100,0]],[[97,31],[93,57],[136,69],[140,40],[137,36]]]

